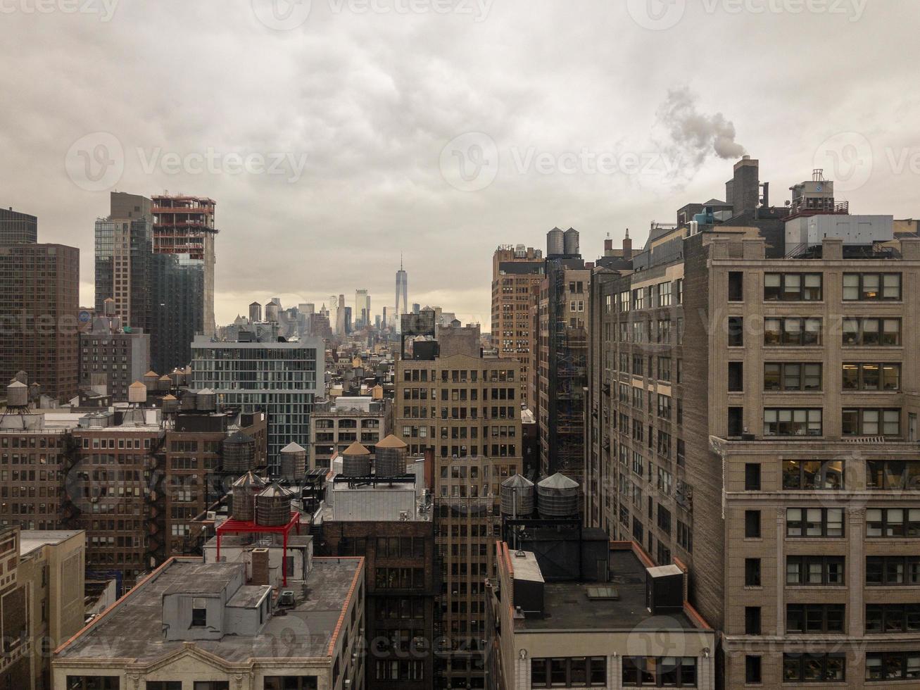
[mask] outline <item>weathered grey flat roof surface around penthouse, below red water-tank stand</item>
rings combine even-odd
[[[350,602],[358,573],[358,558],[315,558],[305,582],[290,582],[294,606],[285,615],[271,615],[257,635],[225,635],[200,639],[194,644],[225,661],[255,657],[304,659],[328,656],[339,617]],[[236,564],[229,564],[238,567]],[[163,595],[198,592],[202,582],[221,581],[228,564],[174,559],[122,597],[108,613],[100,615],[58,654],[60,659],[131,659],[155,661],[182,649],[182,640],[164,640]],[[292,634],[293,633],[293,634]],[[283,646],[278,640],[283,639]],[[288,641],[290,640],[290,642]]]

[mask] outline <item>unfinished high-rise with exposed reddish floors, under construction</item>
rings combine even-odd
[[[203,270],[201,333],[214,333],[214,226],[216,201],[207,197],[152,197],[154,253],[178,254],[179,263],[199,264]]]

